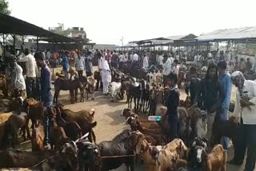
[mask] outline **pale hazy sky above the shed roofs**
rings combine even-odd
[[[45,29],[79,26],[98,44],[256,26],[255,0],[7,0],[11,15]]]

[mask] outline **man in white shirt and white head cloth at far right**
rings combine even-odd
[[[256,161],[256,82],[246,80],[241,71],[231,74],[233,84],[238,88],[234,113],[235,121],[240,121],[241,140],[234,160],[230,161],[235,165],[242,165],[247,148],[246,171],[253,171]]]

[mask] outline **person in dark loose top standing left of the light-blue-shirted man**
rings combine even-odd
[[[195,98],[195,104],[198,104],[200,109],[204,109],[208,113],[206,135],[208,140],[211,137],[216,110],[222,105],[223,100],[222,85],[218,81],[218,67],[212,64],[208,67],[206,77],[202,78],[199,84],[198,95]]]

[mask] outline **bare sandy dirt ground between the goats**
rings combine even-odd
[[[54,73],[56,70],[54,70]],[[185,99],[186,94],[184,90],[181,90],[181,98]],[[53,91],[54,92],[54,91]],[[234,91],[233,91],[234,92]],[[121,133],[123,129],[129,129],[129,126],[125,124],[125,119],[120,116],[122,109],[127,107],[126,100],[123,101],[115,101],[111,102],[110,97],[102,96],[102,92],[99,91],[95,94],[95,100],[92,101],[89,99],[85,102],[78,102],[75,104],[70,104],[68,101],[69,95],[68,92],[62,91],[59,97],[59,100],[65,104],[66,109],[71,109],[74,111],[78,111],[81,109],[95,109],[95,117],[94,120],[97,121],[97,126],[95,128],[97,142],[111,140],[115,135]],[[234,93],[233,93],[234,98]],[[78,97],[79,99],[79,97]],[[144,114],[146,117],[146,113]],[[30,141],[26,141],[19,146],[19,149],[31,149]],[[228,150],[228,161],[233,157],[233,147],[230,147]],[[227,165],[227,171],[238,171],[242,170],[244,166],[235,167],[234,165]],[[143,165],[136,165],[136,170],[144,171],[146,170]],[[115,169],[116,171],[126,170],[124,166],[119,169]]]

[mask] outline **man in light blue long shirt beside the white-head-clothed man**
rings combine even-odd
[[[224,100],[222,102],[222,105],[217,111],[217,117],[219,117],[222,121],[228,121],[229,120],[229,109],[230,109],[230,97],[231,97],[231,89],[232,89],[232,83],[231,83],[231,77],[230,74],[226,71],[226,61],[222,60],[218,62],[218,80],[221,82],[222,89],[223,89],[223,95]],[[223,148],[227,149],[229,145],[229,138],[224,137],[223,138]]]

